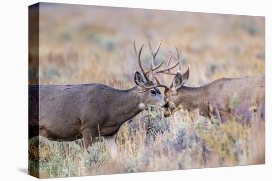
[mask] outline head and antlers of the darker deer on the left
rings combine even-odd
[[[153,52],[153,49],[150,44],[150,39],[148,37],[148,44],[149,44],[149,48],[150,48],[150,52],[151,52],[150,68],[148,68],[140,60],[140,54],[141,54],[141,50],[143,48],[144,43],[142,43],[139,51],[137,52],[136,45],[135,45],[135,39],[133,40],[133,42],[134,42],[134,50],[135,50],[135,53],[137,56],[137,62],[138,62],[139,68],[140,68],[140,72],[136,71],[134,73],[134,81],[138,87],[138,91],[135,93],[140,94],[141,97],[144,98],[144,99],[142,99],[143,101],[140,106],[143,108],[145,108],[146,106],[154,106],[154,107],[159,107],[162,109],[167,109],[168,104],[166,103],[164,96],[161,94],[158,87],[163,87],[165,89],[165,92],[168,91],[168,87],[159,82],[158,78],[156,77],[156,74],[159,72],[167,72],[170,69],[175,68],[179,64],[179,62],[173,67],[170,67],[170,68],[165,67],[165,68],[159,69],[163,65],[163,62],[164,62],[164,57],[163,57],[162,62],[160,64],[158,64],[157,66],[155,66],[155,64],[154,64],[155,57],[160,49],[162,40],[160,41],[156,51]],[[172,58],[172,56],[171,56],[171,58]],[[171,58],[169,59],[169,63],[170,63]],[[169,65],[169,63],[168,63],[168,65]],[[143,67],[145,69],[143,69]],[[149,76],[151,76],[151,78]]]

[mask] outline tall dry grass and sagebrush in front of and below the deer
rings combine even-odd
[[[113,159],[104,143],[84,151],[82,143],[40,138],[40,176],[70,177],[262,164],[265,120],[248,110],[249,121],[232,116],[224,124],[180,110],[171,118],[144,111],[116,134]],[[32,144],[32,142],[31,142]],[[31,157],[33,159],[33,156]],[[33,165],[30,162],[30,167]]]

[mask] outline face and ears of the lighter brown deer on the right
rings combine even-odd
[[[178,71],[173,79],[171,86],[165,93],[165,101],[168,103],[169,108],[164,111],[164,116],[171,116],[175,111],[181,109],[181,99],[178,94],[178,89],[180,89],[185,83],[187,83],[189,78],[190,66],[188,70],[183,74]]]

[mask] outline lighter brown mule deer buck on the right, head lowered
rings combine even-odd
[[[178,52],[177,47],[176,50]],[[180,61],[179,52],[176,56],[168,51]],[[184,84],[189,79],[189,65],[184,73],[181,73],[181,64],[178,72],[167,71],[167,73],[175,77],[165,92],[165,100],[169,104],[169,109],[164,113],[166,117],[179,109],[187,109],[198,110],[200,115],[209,118],[214,115],[222,122],[232,113],[229,105],[233,96],[236,96],[241,103],[254,107],[255,110],[265,106],[265,74],[243,78],[220,78],[201,87],[186,87]]]

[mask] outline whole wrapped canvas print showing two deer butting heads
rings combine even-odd
[[[31,5],[28,124],[38,178],[265,164],[265,17]]]

